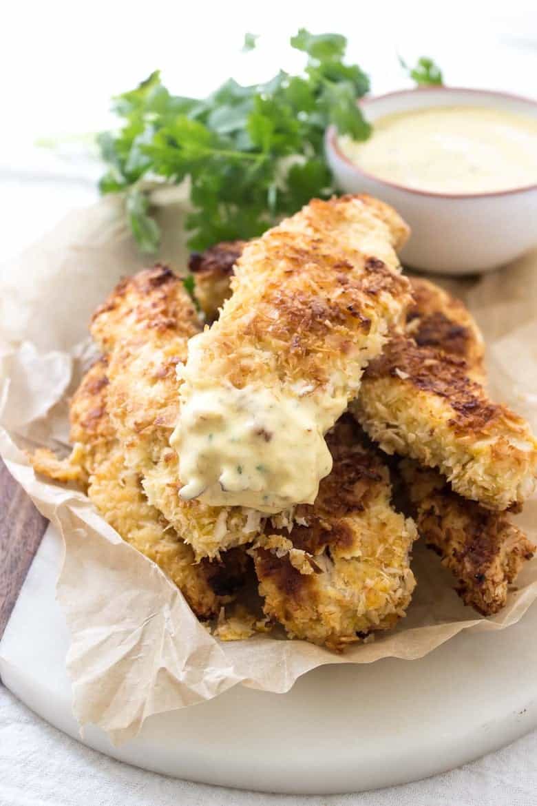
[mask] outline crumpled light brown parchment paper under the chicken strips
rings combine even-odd
[[[178,271],[185,258],[183,200],[176,189],[154,198],[164,226],[163,257]],[[237,683],[286,692],[300,675],[326,663],[416,659],[463,629],[503,629],[518,621],[537,598],[537,559],[523,569],[502,613],[483,618],[462,604],[451,575],[418,543],[418,585],[407,617],[372,642],[341,655],[267,634],[219,642],[163,572],[123,542],[85,496],[35,476],[18,444],[67,448],[66,398],[87,358],[85,323],[118,277],[143,264],[122,213],[113,198],[78,211],[15,265],[0,269],[0,418],[6,429],[0,430],[0,455],[64,538],[57,596],[72,635],[67,666],[81,725],[99,725],[123,742],[152,713],[209,700]],[[17,283],[22,266],[24,286]],[[494,397],[537,429],[537,254],[481,279],[444,285],[465,298],[485,333]],[[537,542],[537,498],[515,521]]]

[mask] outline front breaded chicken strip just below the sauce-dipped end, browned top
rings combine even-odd
[[[356,432],[352,420],[337,423],[315,504],[297,507],[290,534],[266,534],[252,550],[266,615],[334,650],[393,627],[415,587],[414,522],[390,505],[388,469]]]

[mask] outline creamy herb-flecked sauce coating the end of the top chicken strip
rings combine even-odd
[[[320,479],[332,470],[327,422],[346,405],[324,397],[230,384],[198,391],[171,436],[180,457],[180,496],[262,513],[312,504]]]

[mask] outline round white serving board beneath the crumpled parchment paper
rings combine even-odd
[[[48,530],[0,644],[0,674],[35,713],[79,738],[64,670],[67,629],[54,600],[59,542]],[[537,608],[518,625],[463,633],[426,658],[324,667],[285,695],[238,687],[151,717],[114,748],[177,778],[287,793],[386,787],[458,767],[537,725]]]

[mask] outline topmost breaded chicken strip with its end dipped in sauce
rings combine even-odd
[[[312,200],[250,241],[220,318],[191,339],[171,440],[181,495],[276,513],[315,501],[345,411],[410,300],[407,226],[370,197]]]

